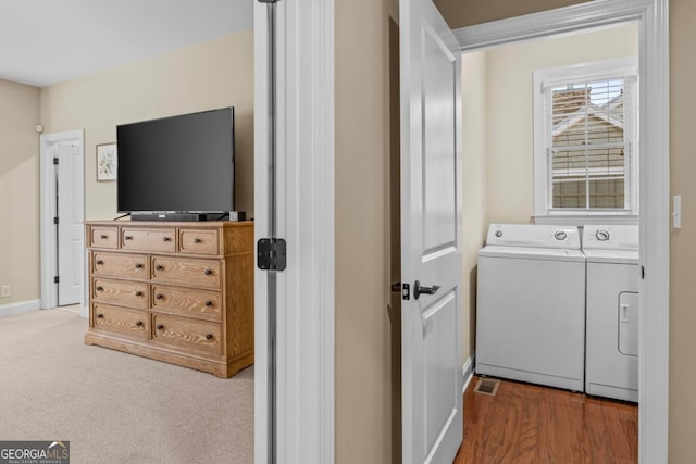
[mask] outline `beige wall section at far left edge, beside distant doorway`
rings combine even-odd
[[[39,288],[39,89],[0,79],[0,305]]]

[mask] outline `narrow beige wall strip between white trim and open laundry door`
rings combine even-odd
[[[390,456],[388,2],[336,1],[336,463]]]

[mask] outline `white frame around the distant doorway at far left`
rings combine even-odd
[[[53,283],[55,277],[58,261],[57,231],[53,224],[58,208],[55,201],[55,168],[53,167],[53,153],[51,146],[63,141],[77,141],[79,143],[79,155],[85,165],[85,134],[84,129],[67,130],[63,133],[42,134],[40,137],[40,269],[41,269],[41,309],[50,310],[58,305],[58,289]],[[82,170],[82,179],[77,183],[77,192],[83,199],[83,214],[85,213],[85,170]],[[87,262],[83,259],[83,287],[86,288]],[[87,317],[86,289],[80,297],[80,313]]]

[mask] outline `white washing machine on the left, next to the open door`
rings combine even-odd
[[[492,224],[478,252],[478,374],[582,391],[585,255],[577,227]]]

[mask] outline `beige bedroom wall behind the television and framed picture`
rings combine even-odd
[[[97,143],[112,142],[116,125],[235,106],[235,200],[253,211],[253,32],[41,89],[46,133],[85,129],[85,216],[116,215],[116,183],[96,179]]]

